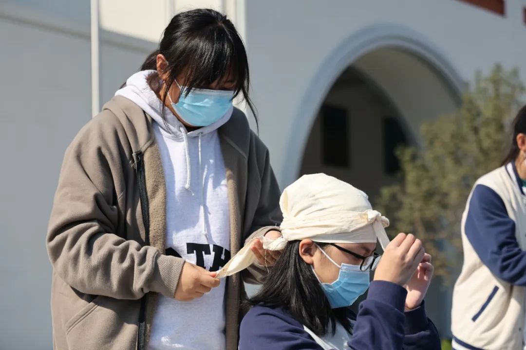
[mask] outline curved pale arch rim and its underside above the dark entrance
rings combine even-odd
[[[312,76],[292,122],[295,137],[286,147],[280,176],[283,185],[300,175],[302,155],[320,109],[349,69],[381,92],[396,117],[403,120],[408,137],[417,143],[421,122],[457,108],[464,88],[447,57],[419,33],[396,25],[358,31],[329,52]]]

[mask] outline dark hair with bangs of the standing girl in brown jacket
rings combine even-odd
[[[161,96],[163,103],[166,103],[168,89],[181,72],[186,76],[187,89],[181,91],[185,96],[216,80],[224,81],[231,73],[236,80],[234,97],[242,94],[257,123],[256,110],[248,93],[247,52],[234,24],[225,15],[208,8],[175,15],[164,30],[159,48],[146,58],[140,70],[156,70],[158,54],[168,62],[167,70],[162,72],[168,76],[164,80],[165,93]],[[158,90],[160,87],[152,88]]]

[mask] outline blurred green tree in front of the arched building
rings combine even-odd
[[[516,69],[496,65],[489,75],[477,73],[456,112],[424,123],[418,148],[397,150],[400,181],[380,191],[377,204],[391,220],[390,234],[420,238],[446,281],[462,262],[466,200],[477,178],[500,165],[523,94]]]

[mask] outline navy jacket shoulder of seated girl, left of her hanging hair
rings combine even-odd
[[[243,317],[239,350],[322,350],[301,323],[280,309],[254,306]]]

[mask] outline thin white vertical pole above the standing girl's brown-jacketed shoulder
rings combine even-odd
[[[99,2],[91,1],[92,116],[100,112]]]

